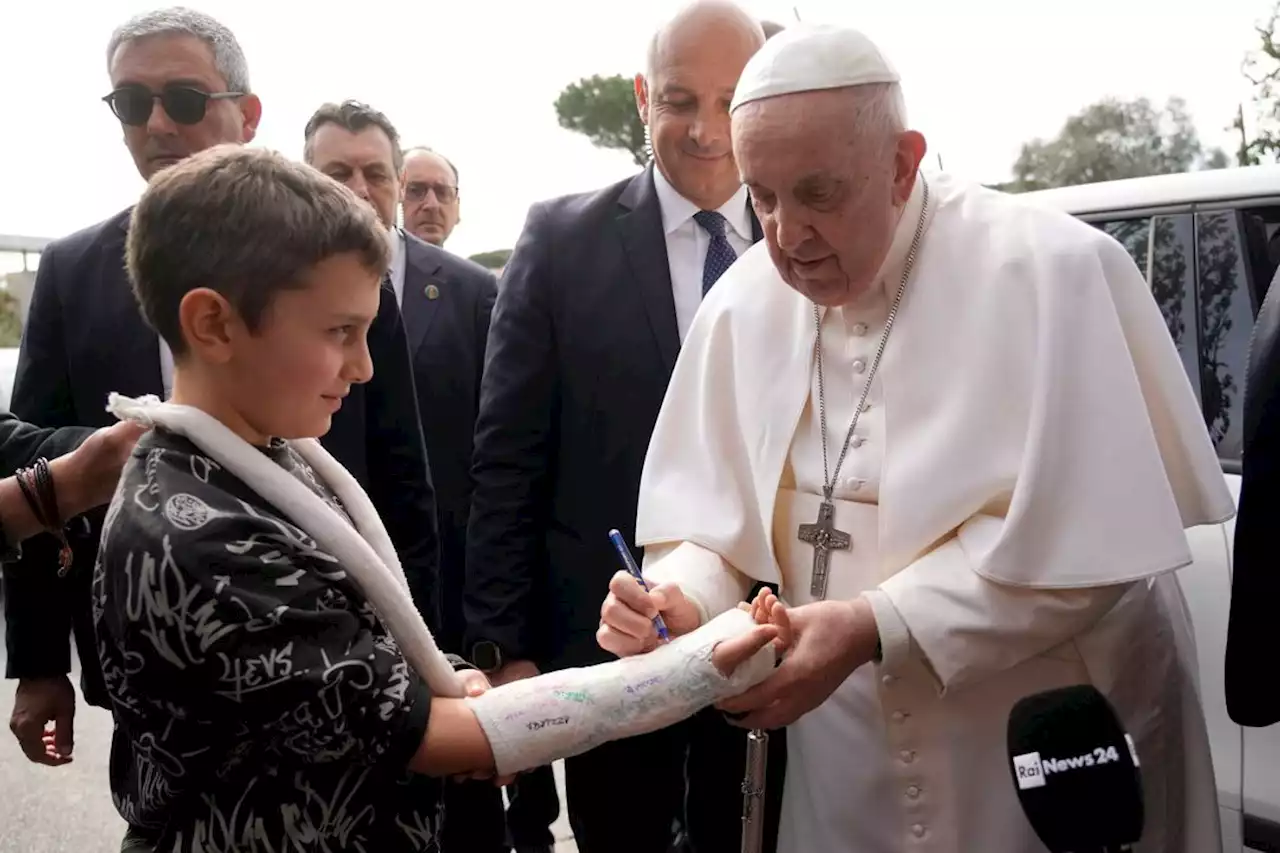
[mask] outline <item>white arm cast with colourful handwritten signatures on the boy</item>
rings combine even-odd
[[[750,615],[735,608],[648,654],[513,681],[467,704],[499,775],[540,767],[664,729],[755,686],[773,671],[772,643],[727,678],[712,662],[718,643],[753,626]]]

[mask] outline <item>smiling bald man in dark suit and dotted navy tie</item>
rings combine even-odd
[[[728,105],[763,44],[760,24],[728,3],[696,3],[668,22],[636,77],[654,163],[599,192],[534,205],[503,273],[463,599],[467,649],[495,681],[608,660],[595,642],[620,567],[608,532],[632,540],[681,339],[703,295],[760,238]],[[737,850],[744,756],[742,733],[712,712],[570,758],[579,849]],[[691,844],[680,847],[673,824]]]

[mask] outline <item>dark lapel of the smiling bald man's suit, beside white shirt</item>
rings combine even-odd
[[[640,288],[649,327],[667,370],[680,355],[680,329],[676,325],[676,298],[671,292],[671,266],[667,263],[667,236],[662,229],[662,207],[653,186],[653,165],[632,178],[618,199],[618,216],[627,263]]]

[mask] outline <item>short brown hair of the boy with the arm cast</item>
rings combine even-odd
[[[387,270],[387,237],[353,192],[274,151],[219,145],[151,179],[125,263],[142,315],[180,356],[178,306],[191,291],[221,293],[252,330],[278,292],[347,252]]]

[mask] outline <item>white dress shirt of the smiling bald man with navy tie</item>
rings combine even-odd
[[[653,183],[658,191],[658,205],[662,207],[662,231],[667,236],[667,264],[671,268],[671,293],[676,298],[676,325],[684,342],[703,301],[703,264],[707,263],[707,248],[712,238],[694,222],[694,214],[700,207],[680,195],[657,167],[653,170]],[[733,197],[721,205],[717,213],[728,223],[724,236],[741,257],[753,243],[746,187],[739,187]]]

